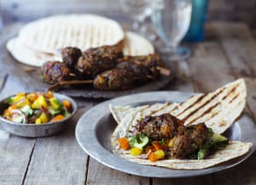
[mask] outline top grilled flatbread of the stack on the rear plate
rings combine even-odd
[[[63,14],[35,20],[19,32],[27,47],[50,54],[70,46],[81,50],[114,45],[125,38],[119,23],[94,14]]]

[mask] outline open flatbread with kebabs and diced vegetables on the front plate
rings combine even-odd
[[[138,164],[183,170],[235,159],[247,153],[252,143],[228,141],[219,134],[239,117],[246,94],[245,82],[239,79],[182,103],[110,106],[118,122],[112,136],[113,153]]]

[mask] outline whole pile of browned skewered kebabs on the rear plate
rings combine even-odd
[[[70,47],[62,49],[62,66],[65,69],[69,67],[70,71],[66,70],[67,72],[61,74],[58,68],[48,69],[59,64],[58,61],[49,61],[47,63],[54,64],[46,63],[42,67],[44,81],[55,84],[51,90],[67,84],[93,84],[99,90],[124,90],[150,78],[157,78],[160,74],[158,67],[162,66],[157,55],[123,56],[110,46],[88,49],[82,55],[77,50]],[[75,62],[76,60],[78,61]],[[83,65],[79,66],[81,63]],[[60,77],[55,78],[55,73]],[[84,80],[86,78],[93,80]]]

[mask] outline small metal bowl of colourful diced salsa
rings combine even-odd
[[[0,123],[17,136],[51,136],[65,130],[76,111],[76,102],[67,95],[21,92],[0,101]]]

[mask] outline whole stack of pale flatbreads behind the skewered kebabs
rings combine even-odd
[[[95,14],[63,14],[32,21],[9,40],[7,49],[17,61],[42,66],[45,61],[61,61],[62,48],[84,51],[103,45],[119,45],[125,55],[154,53],[146,38],[124,32],[115,20]]]

